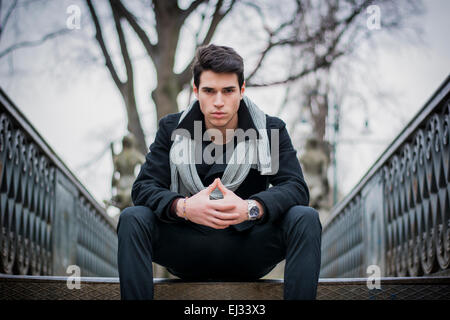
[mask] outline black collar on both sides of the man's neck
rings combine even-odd
[[[241,100],[239,104],[239,109],[237,111],[238,114],[238,128],[244,130],[244,132],[248,129],[254,129],[256,131],[257,138],[260,138],[258,129],[253,122],[253,119],[248,111],[247,105],[244,100]],[[188,112],[188,114],[184,117],[184,119],[178,124],[176,129],[186,129],[189,131],[191,137],[194,137],[194,121],[202,122],[202,135],[206,131],[205,125],[205,116],[203,115],[200,104],[197,101],[194,102],[192,109]]]

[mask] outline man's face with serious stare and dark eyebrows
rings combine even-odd
[[[235,73],[215,73],[207,70],[200,75],[200,84],[194,84],[194,93],[205,116],[206,128],[219,130],[237,127],[237,111],[245,91],[239,89]]]

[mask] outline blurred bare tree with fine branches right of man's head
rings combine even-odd
[[[266,31],[265,47],[254,69],[246,77],[247,87],[288,84],[287,90],[290,90],[293,86],[305,86],[302,80],[312,79],[308,80],[301,97],[311,116],[313,132],[319,140],[324,139],[326,130],[329,72],[341,57],[351,55],[361,42],[370,40],[376,34],[377,31],[369,25],[371,15],[379,19],[380,29],[392,33],[402,31],[410,16],[423,11],[420,0],[296,0],[290,10],[291,16],[271,28],[270,12],[262,10],[262,6],[254,2],[247,5],[258,13]],[[279,78],[274,78],[273,73],[269,78],[264,74],[264,64],[270,64],[274,56],[271,53],[279,55],[280,48],[283,52],[293,52],[293,61],[289,64],[289,70],[278,72],[281,75]],[[286,57],[289,55],[286,54]],[[296,99],[299,100],[298,97]],[[281,108],[288,104],[286,102],[285,99]]]

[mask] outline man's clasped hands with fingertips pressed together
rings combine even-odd
[[[209,196],[216,188],[222,192],[223,198],[210,200]],[[183,201],[178,201],[177,212],[182,211],[182,206]],[[247,201],[227,189],[217,178],[208,188],[186,200],[186,217],[194,223],[225,229],[248,219]]]

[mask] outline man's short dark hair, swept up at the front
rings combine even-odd
[[[192,65],[194,84],[197,88],[200,85],[200,75],[206,70],[216,73],[235,73],[238,77],[239,88],[242,88],[244,60],[233,48],[214,44],[199,47]]]

